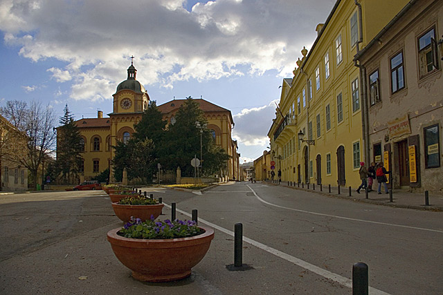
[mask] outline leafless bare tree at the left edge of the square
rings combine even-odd
[[[6,108],[0,108],[0,113],[11,120],[17,129],[26,133],[26,154],[15,153],[12,160],[28,169],[31,183],[36,189],[39,183],[38,172],[40,169],[44,171],[44,160],[53,149],[56,140],[53,132],[53,110],[50,106],[43,107],[39,102],[31,102],[27,108],[24,102],[10,101],[7,102]]]

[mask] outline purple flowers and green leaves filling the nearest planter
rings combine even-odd
[[[198,236],[204,232],[204,229],[197,227],[196,222],[192,220],[155,221],[151,218],[142,222],[137,218],[128,222],[117,234],[125,238],[169,239]]]

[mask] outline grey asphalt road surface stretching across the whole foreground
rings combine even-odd
[[[442,294],[442,212],[246,182],[201,195],[153,193],[176,202],[178,218],[198,209],[199,222],[215,228],[190,278],[134,280],[106,240],[122,222],[102,191],[15,194],[0,196],[0,294],[352,294],[360,261],[369,266],[370,294]],[[170,218],[169,207],[163,213]],[[231,272],[237,222],[243,263],[253,269]]]

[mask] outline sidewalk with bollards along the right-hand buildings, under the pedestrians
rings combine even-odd
[[[347,200],[354,200],[356,202],[366,202],[370,204],[380,204],[383,206],[391,206],[391,207],[399,207],[399,208],[408,208],[408,209],[418,209],[418,210],[431,210],[431,211],[443,211],[443,196],[437,195],[428,195],[428,205],[426,205],[425,194],[424,193],[410,193],[406,190],[402,189],[394,189],[392,191],[392,202],[390,202],[390,195],[388,193],[384,193],[382,190],[381,195],[377,193],[377,187],[375,187],[375,191],[371,191],[368,193],[368,198],[366,198],[366,194],[364,190],[361,190],[360,193],[356,192],[356,189],[352,188],[351,192],[349,191],[349,187],[341,187],[340,194],[338,194],[338,187],[331,187],[331,191],[329,193],[329,187],[323,185],[321,187],[318,184],[297,184],[294,182],[266,182],[268,184],[280,185],[282,187],[289,187],[291,189],[300,189],[303,191],[310,191],[313,193],[321,193],[325,196],[332,198],[342,198]]]

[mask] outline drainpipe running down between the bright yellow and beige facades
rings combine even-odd
[[[359,41],[356,44],[357,55],[360,53],[359,45],[363,43],[363,13],[361,10],[361,4],[354,0],[354,3],[359,8]],[[361,100],[361,126],[363,131],[362,145],[363,145],[363,158],[365,163],[370,162],[370,142],[369,142],[369,111],[368,111],[368,93],[366,92],[366,68],[354,61],[354,66],[360,69],[360,100]]]

